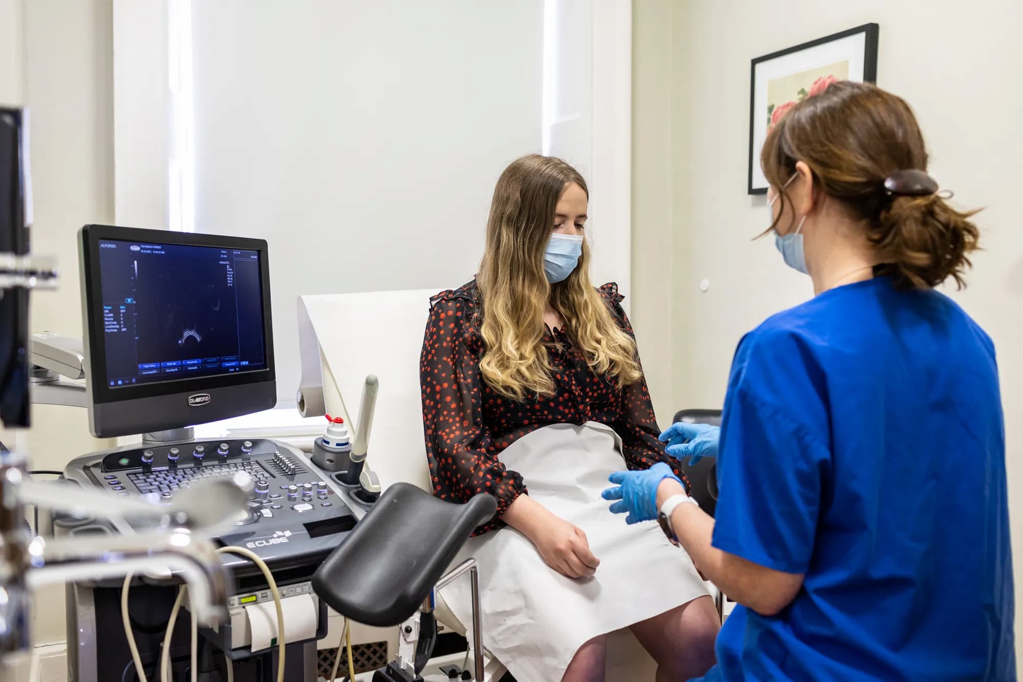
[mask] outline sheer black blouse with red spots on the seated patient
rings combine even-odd
[[[617,284],[601,287],[619,326],[632,335]],[[464,502],[477,493],[497,499],[497,513],[477,529],[486,533],[523,493],[522,476],[498,460],[502,450],[517,440],[548,424],[605,423],[621,437],[623,455],[630,469],[646,469],[667,462],[682,478],[678,462],[664,452],[661,430],[654,417],[647,380],[622,390],[616,378],[598,376],[562,330],[544,336],[553,371],[554,394],[522,402],[505,398],[486,384],[480,373],[483,339],[480,335],[481,302],[476,281],[442,291],[431,300],[419,363],[422,423],[434,494]],[[684,479],[683,479],[684,481]],[[687,485],[687,482],[686,482]]]

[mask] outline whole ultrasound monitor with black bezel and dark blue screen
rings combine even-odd
[[[94,436],[274,406],[265,240],[86,225],[79,245]]]

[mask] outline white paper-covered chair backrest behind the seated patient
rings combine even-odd
[[[313,320],[317,340],[352,419],[359,413],[366,375],[380,379],[366,460],[385,488],[405,482],[433,491],[422,436],[419,355],[430,297],[439,290],[303,297],[310,315],[321,318]]]

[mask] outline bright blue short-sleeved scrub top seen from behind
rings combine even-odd
[[[1015,680],[1005,430],[991,339],[881,277],[739,345],[713,544],[805,574],[738,606],[717,680]]]

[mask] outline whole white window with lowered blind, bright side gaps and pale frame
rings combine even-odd
[[[119,224],[269,242],[281,406],[297,297],[464,283],[497,176],[545,141],[627,288],[630,6],[115,0]]]

